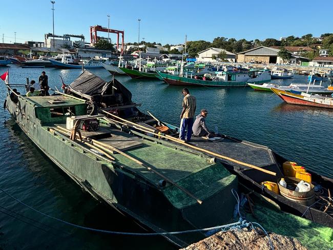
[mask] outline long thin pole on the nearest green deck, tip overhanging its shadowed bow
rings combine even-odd
[[[67,133],[71,133],[70,130],[67,130],[67,129],[65,129],[65,128],[62,128],[62,127],[59,127],[59,126],[57,126],[57,128],[59,128],[59,129],[56,129],[56,128],[55,128],[55,130],[63,131],[63,132],[66,131]],[[51,129],[50,129],[50,130],[51,130]],[[115,151],[115,152],[117,152],[117,153],[119,153],[119,154],[121,154],[121,155],[123,155],[123,156],[125,156],[125,157],[127,157],[127,158],[129,158],[129,159],[131,159],[131,160],[133,160],[133,161],[135,161],[135,162],[138,163],[139,165],[144,166],[144,168],[147,168],[149,171],[152,171],[152,172],[155,173],[156,175],[160,176],[160,177],[163,178],[165,181],[167,181],[167,182],[171,183],[172,185],[176,186],[176,188],[180,189],[180,190],[183,191],[185,194],[187,194],[187,195],[189,195],[190,197],[192,197],[193,199],[195,199],[200,205],[202,204],[202,201],[201,201],[199,198],[195,197],[195,196],[194,196],[193,194],[191,194],[189,191],[187,191],[186,189],[184,189],[184,188],[182,188],[181,186],[179,186],[179,185],[178,185],[176,182],[174,182],[173,180],[169,179],[168,177],[164,176],[163,174],[159,173],[158,171],[152,169],[152,168],[151,168],[150,166],[148,166],[147,164],[144,164],[142,161],[139,161],[139,160],[135,159],[134,157],[132,157],[132,156],[130,156],[130,155],[128,155],[128,154],[126,154],[126,153],[124,153],[124,152],[118,150],[118,149],[115,148],[115,147],[112,147],[112,146],[109,145],[109,144],[102,143],[102,142],[100,142],[100,141],[97,141],[97,140],[94,140],[94,139],[91,139],[91,138],[89,138],[89,137],[85,137],[85,136],[82,136],[82,138],[89,139],[89,140],[91,140],[94,144],[99,145],[99,147],[112,149],[113,151]],[[91,146],[91,144],[88,144],[88,145]],[[104,150],[104,149],[103,149],[103,150]],[[110,152],[110,151],[109,151],[109,152]],[[103,152],[103,153],[104,153],[104,152]],[[111,152],[110,152],[110,153],[111,153]],[[112,153],[112,154],[113,154],[113,153]],[[106,155],[107,155],[107,154],[106,154]]]

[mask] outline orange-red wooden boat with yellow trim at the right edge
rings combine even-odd
[[[272,88],[272,91],[289,104],[333,109],[332,96],[314,95],[304,92],[297,94],[276,88]]]

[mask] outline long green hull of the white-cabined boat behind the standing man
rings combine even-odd
[[[169,85],[176,86],[206,86],[206,87],[245,87],[247,83],[244,81],[207,81],[207,80],[199,80],[189,77],[181,77],[178,75],[170,75],[162,72],[158,72],[159,76],[163,78],[163,80]],[[265,81],[258,81],[267,82]]]

